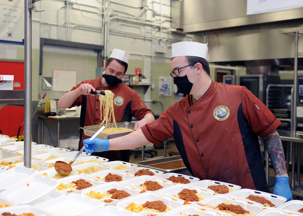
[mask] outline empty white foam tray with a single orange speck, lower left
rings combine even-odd
[[[2,191],[0,198],[11,202],[13,205],[27,204],[47,195],[58,185],[59,182],[55,179],[32,175]]]

